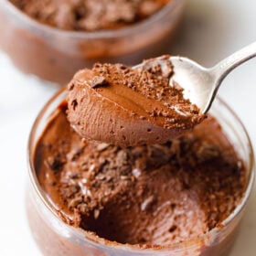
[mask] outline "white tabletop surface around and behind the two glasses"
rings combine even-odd
[[[172,54],[211,66],[256,39],[256,2],[190,0],[184,31]],[[4,26],[1,24],[0,26]],[[40,255],[27,227],[25,186],[27,137],[32,123],[56,87],[27,77],[0,52],[0,255]],[[219,94],[240,115],[256,139],[256,59],[235,70]],[[256,255],[256,188],[229,256]]]

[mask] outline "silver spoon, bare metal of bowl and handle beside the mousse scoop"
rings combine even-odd
[[[170,80],[184,89],[184,98],[196,104],[201,112],[208,112],[219,86],[230,71],[256,56],[256,42],[241,48],[212,68],[204,68],[184,57],[171,57],[175,74]],[[161,61],[160,61],[161,62]],[[160,63],[161,64],[161,63]],[[163,68],[163,67],[162,67]]]

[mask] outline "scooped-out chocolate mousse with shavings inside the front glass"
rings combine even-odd
[[[215,118],[165,144],[123,148],[81,138],[67,108],[63,102],[52,113],[34,162],[40,186],[69,225],[106,240],[165,246],[219,227],[240,204],[244,165]]]

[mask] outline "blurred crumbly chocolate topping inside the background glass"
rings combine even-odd
[[[95,31],[131,25],[170,0],[10,0],[28,16],[52,27]]]

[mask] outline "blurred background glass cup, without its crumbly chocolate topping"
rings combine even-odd
[[[155,15],[130,27],[96,32],[65,31],[30,18],[8,0],[0,1],[0,48],[18,69],[65,84],[97,62],[137,64],[168,52],[185,0],[171,0]],[[15,42],[15,43],[14,43]]]

